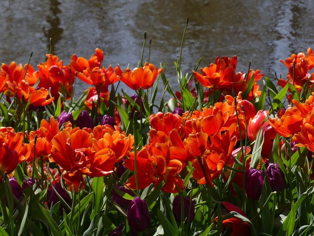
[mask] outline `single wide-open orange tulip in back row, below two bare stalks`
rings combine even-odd
[[[148,89],[162,70],[162,68],[157,69],[153,64],[145,62],[143,67],[134,68],[132,71],[129,68],[124,70],[120,80],[134,90]]]

